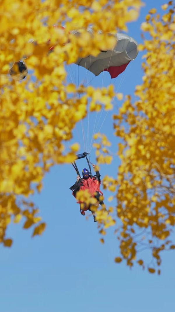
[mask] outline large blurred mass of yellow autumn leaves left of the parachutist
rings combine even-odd
[[[96,110],[97,90],[68,84],[65,62],[71,64],[77,55],[97,55],[100,42],[111,44],[107,32],[127,30],[126,22],[137,18],[140,5],[140,0],[0,3],[0,242],[5,246],[12,244],[6,237],[8,224],[21,217],[24,228],[34,225],[33,235],[45,229],[28,197],[41,191],[51,166],[75,159],[78,144],[66,154],[63,141],[72,138],[75,124],[86,116],[88,98]],[[90,25],[91,40],[86,32]],[[76,29],[81,32],[78,39],[71,33]],[[48,53],[53,45],[54,53]],[[9,67],[24,59],[30,75],[23,81],[11,79]],[[17,73],[16,65],[13,71]],[[97,94],[107,109],[113,88]]]

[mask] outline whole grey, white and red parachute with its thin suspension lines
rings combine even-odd
[[[53,27],[59,27],[63,31],[65,29],[64,27],[57,26],[57,25],[54,25]],[[90,34],[90,38],[92,37],[93,39],[93,36],[94,36],[93,29],[89,27],[87,29],[87,32],[88,34]],[[71,32],[71,34],[77,38],[81,36],[80,31],[73,31]],[[134,38],[126,34],[122,34],[122,33],[116,33],[116,34],[109,33],[109,37],[112,38],[112,41],[110,42],[113,42],[112,43],[113,46],[110,47],[108,46],[108,41],[105,41],[105,40],[100,41],[100,39],[103,38],[103,36],[101,36],[100,38],[101,34],[103,33],[102,32],[98,33],[99,35],[98,40],[101,46],[101,51],[97,56],[92,56],[92,55],[87,55],[86,57],[77,56],[77,60],[74,63],[65,66],[66,71],[68,73],[67,79],[69,79],[70,82],[73,83],[74,85],[79,85],[82,83],[83,85],[88,86],[96,76],[100,75],[101,72],[103,72],[103,75],[99,77],[99,81],[102,78],[102,83],[100,83],[99,87],[101,88],[104,82],[106,85],[109,85],[111,84],[111,81],[109,80],[112,78],[116,78],[122,72],[124,72],[128,64],[136,58],[138,54],[138,45]],[[30,40],[30,42],[31,44],[37,45],[37,42],[33,40]],[[50,39],[48,39],[47,44],[48,44],[48,53],[49,52],[54,53],[54,48],[56,47],[57,43],[55,43],[54,45],[52,44],[51,46]],[[26,62],[27,62],[27,58],[26,58]],[[110,75],[108,75],[107,73],[104,74],[104,72],[109,72]],[[24,79],[27,75],[27,66],[26,64],[24,64],[23,61],[15,62],[13,66],[10,68],[9,73],[13,79],[18,79],[18,80]],[[91,78],[91,76],[93,76],[93,78]],[[103,76],[104,76],[104,79],[103,79]],[[123,75],[121,75],[121,77],[122,76]],[[118,83],[118,88],[116,91],[118,91],[119,87],[123,83],[124,78],[123,77],[121,78],[122,81]],[[95,81],[95,85],[97,85],[97,81]],[[113,81],[113,85],[115,85],[115,80]],[[79,95],[79,97],[81,97],[81,95]],[[98,115],[99,113],[98,111],[96,112],[96,115],[94,115],[95,112],[92,112],[91,120],[90,120],[89,119],[90,105],[89,103],[87,104],[87,119],[85,118],[84,120],[85,122],[87,121],[87,127],[86,127],[87,129],[84,130],[83,121],[81,121],[82,129],[78,131],[78,135],[80,136],[82,132],[84,151],[88,153],[91,152],[91,149],[93,146],[93,135],[96,132],[100,131],[100,129],[102,128],[102,125],[104,124],[106,116],[108,114],[108,111],[107,111],[106,115],[104,117],[102,116],[105,110],[106,109],[103,107],[100,112],[100,116]],[[100,128],[98,128],[98,125],[100,125]],[[78,141],[80,142],[80,140]],[[87,158],[87,155],[86,155],[86,158]],[[73,166],[75,170],[77,171],[78,168],[76,164],[73,164]]]

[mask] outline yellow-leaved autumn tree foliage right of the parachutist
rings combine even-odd
[[[172,2],[169,2],[169,6]],[[162,6],[167,10],[168,4]],[[104,188],[115,192],[121,221],[116,232],[121,256],[145,267],[140,251],[151,251],[150,273],[161,264],[160,252],[175,249],[171,240],[175,224],[175,59],[174,10],[162,17],[150,10],[141,29],[145,51],[143,84],[136,86],[138,100],[131,97],[113,116],[116,136],[121,138],[117,178],[105,177]],[[104,222],[104,227],[106,224]],[[158,274],[160,269],[158,268]]]

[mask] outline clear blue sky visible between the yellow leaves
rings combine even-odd
[[[128,25],[128,34],[138,42],[141,42],[140,23],[144,16],[150,8],[158,8],[165,2],[147,0],[145,3],[138,21]],[[142,53],[117,78],[116,90],[133,96],[135,85],[141,83],[143,75],[141,57]],[[93,85],[102,85],[102,80],[103,85],[109,84],[109,74],[105,73],[103,79],[102,74],[96,77]],[[104,121],[101,132],[112,141],[112,152],[116,151],[117,138],[113,136],[111,116],[118,105],[120,102],[115,102],[114,111],[105,120],[104,112],[101,119]],[[90,116],[90,124],[94,118],[96,115]],[[83,123],[84,129],[87,124],[88,119]],[[81,125],[75,129],[73,142],[79,142],[83,152],[81,130]],[[95,162],[93,149],[91,161]],[[118,164],[115,156],[111,165],[101,166],[102,177],[106,174],[115,177]],[[83,160],[78,165],[80,170],[86,166]],[[14,243],[10,249],[0,247],[0,312],[173,311],[173,251],[163,254],[160,276],[137,266],[130,270],[125,263],[116,264],[114,258],[119,255],[119,249],[114,228],[109,229],[102,245],[97,223],[91,216],[88,220],[81,216],[71,195],[69,187],[75,178],[71,165],[55,166],[45,176],[41,194],[33,197],[47,222],[42,236],[31,238],[32,230],[22,230],[22,222],[10,225],[7,236],[13,237]],[[109,194],[104,192],[104,195],[107,198]]]

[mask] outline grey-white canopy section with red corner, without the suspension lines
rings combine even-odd
[[[88,32],[93,36],[91,28]],[[78,31],[74,31],[75,36],[79,36]],[[89,55],[87,57],[78,58],[75,64],[83,66],[98,76],[102,71],[108,71],[111,78],[116,78],[121,74],[130,61],[134,60],[138,54],[137,42],[130,36],[116,33],[116,45],[113,49],[101,51],[97,56]]]

